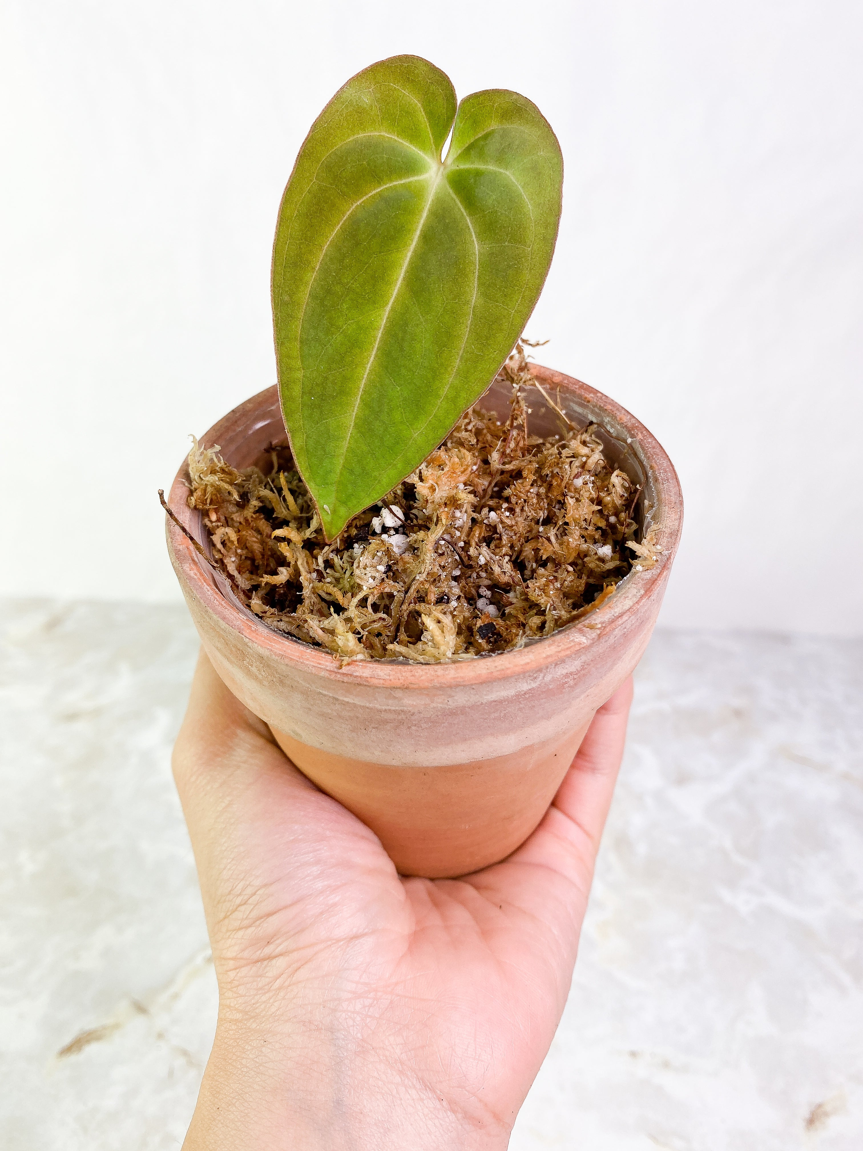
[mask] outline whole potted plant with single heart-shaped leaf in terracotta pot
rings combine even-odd
[[[216,671],[403,874],[534,830],[680,536],[647,428],[518,343],[562,182],[517,93],[457,106],[417,56],[349,81],[278,214],[278,386],[196,442],[166,505]]]

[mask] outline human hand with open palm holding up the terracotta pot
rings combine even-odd
[[[219,980],[184,1151],[506,1148],[572,980],[632,680],[509,859],[402,878],[201,654],[174,750]]]

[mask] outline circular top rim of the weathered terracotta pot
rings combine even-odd
[[[655,585],[665,579],[682,528],[683,501],[680,480],[658,440],[620,404],[573,376],[540,364],[530,364],[529,367],[540,383],[565,388],[574,392],[582,404],[610,416],[625,430],[633,447],[640,449],[637,451],[640,463],[652,481],[656,493],[651,524],[652,542],[662,549],[656,564],[641,571],[633,567],[608,600],[585,619],[568,624],[549,637],[532,641],[526,647],[476,656],[473,660],[459,660],[452,663],[360,660],[342,666],[326,649],[281,635],[251,612],[242,611],[228,600],[191,542],[166,516],[168,550],[177,574],[180,576],[181,571],[183,573],[181,584],[184,582],[184,590],[194,595],[207,611],[219,617],[227,627],[239,632],[247,642],[266,648],[270,657],[291,665],[295,670],[369,687],[428,691],[433,687],[445,689],[448,686],[483,684],[539,672],[549,664],[566,660],[576,650],[583,651],[610,626],[621,624],[636,603],[642,597],[649,596]],[[235,414],[247,405],[254,405],[260,396],[269,390],[269,388],[264,389],[224,416],[201,437],[201,443],[207,447],[219,443],[228,421],[232,421]],[[168,505],[180,521],[196,534],[192,511],[185,502],[189,490],[185,475],[188,471],[184,460],[171,486]]]

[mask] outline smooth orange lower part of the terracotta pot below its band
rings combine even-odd
[[[402,875],[448,879],[498,863],[521,846],[549,809],[588,726],[589,719],[496,759],[429,768],[351,760],[270,731],[304,776],[374,831]]]

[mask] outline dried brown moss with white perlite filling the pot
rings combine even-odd
[[[343,662],[440,663],[550,635],[613,590],[629,550],[655,563],[634,540],[637,490],[593,426],[562,413],[559,435],[530,435],[521,386],[535,381],[520,348],[503,375],[513,384],[505,422],[472,407],[330,544],[288,447],[239,472],[196,441],[189,505],[243,602]]]

